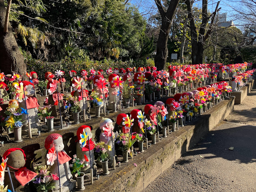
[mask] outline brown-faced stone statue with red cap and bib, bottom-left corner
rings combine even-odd
[[[25,184],[29,183],[37,176],[37,173],[24,167],[26,163],[26,155],[22,149],[8,149],[3,155],[3,159],[7,158],[6,165],[10,169],[11,180],[15,191],[21,189]],[[11,186],[8,172],[5,172],[4,183],[5,185]]]

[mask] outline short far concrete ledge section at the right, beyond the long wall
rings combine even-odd
[[[231,96],[235,96],[235,104],[242,104],[246,96],[251,92],[254,85],[254,79],[250,80],[240,91],[231,92]]]

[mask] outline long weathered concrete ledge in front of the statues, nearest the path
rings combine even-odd
[[[171,133],[148,150],[122,164],[107,176],[100,176],[93,185],[87,184],[86,191],[142,191],[181,155],[198,143],[209,130],[224,120],[234,108],[235,98],[224,100],[199,116],[195,121]],[[137,167],[133,164],[136,163]]]

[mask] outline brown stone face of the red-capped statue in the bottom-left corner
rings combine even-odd
[[[13,168],[22,168],[25,163],[23,152],[20,150],[13,151],[8,155],[7,164]]]

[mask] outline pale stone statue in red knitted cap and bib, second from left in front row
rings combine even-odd
[[[54,133],[46,137],[44,147],[46,150],[50,150],[54,146],[55,152],[58,152],[58,160],[59,160],[59,174],[58,174],[58,162],[57,158],[54,160],[54,163],[51,165],[49,171],[52,174],[59,175],[60,185],[63,187],[67,186],[69,191],[72,191],[75,187],[74,181],[71,181],[72,174],[69,168],[69,161],[71,157],[64,151],[64,144],[62,140],[62,136]],[[50,156],[50,155],[49,155]],[[45,165],[50,165],[48,161],[48,154],[45,157]],[[59,180],[54,180],[55,190],[59,189]],[[63,191],[63,190],[62,190]],[[65,190],[66,191],[66,190]]]

